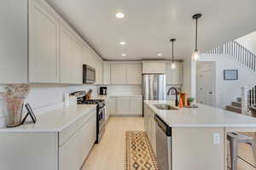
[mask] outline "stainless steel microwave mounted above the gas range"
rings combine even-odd
[[[90,65],[83,65],[83,83],[93,84],[96,82],[96,70]]]

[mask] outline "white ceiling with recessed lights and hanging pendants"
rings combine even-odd
[[[256,30],[255,0],[48,1],[104,59],[171,59],[171,37],[177,38],[176,58],[190,57],[195,47],[191,17],[196,13],[202,14],[201,51]],[[125,19],[116,19],[117,12],[123,12]]]

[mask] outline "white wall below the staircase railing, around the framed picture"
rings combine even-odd
[[[256,84],[256,74],[241,65],[235,59],[225,54],[205,54],[201,55],[201,61],[215,61],[215,87],[216,87],[216,106],[224,108],[236,101],[241,96],[241,87],[252,88]],[[224,70],[238,70],[237,81],[224,81]]]

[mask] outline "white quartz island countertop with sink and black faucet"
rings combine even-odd
[[[154,105],[174,106],[174,102],[171,100],[145,100],[144,103],[170,127],[256,127],[256,118],[252,116],[244,116],[207,105],[196,104],[199,107],[195,109],[163,111]]]

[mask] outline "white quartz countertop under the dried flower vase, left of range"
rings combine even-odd
[[[38,122],[35,124],[25,123],[20,127],[3,128],[0,129],[0,133],[61,132],[63,129],[69,127],[73,122],[78,121],[80,117],[88,114],[93,109],[96,109],[96,105],[63,107],[37,116]]]

